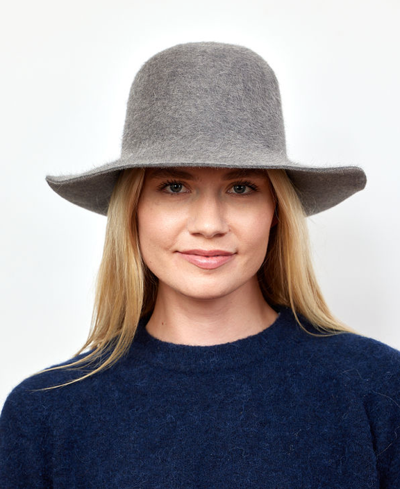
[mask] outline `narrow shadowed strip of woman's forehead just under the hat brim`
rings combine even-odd
[[[216,178],[219,177],[222,180],[231,179],[243,179],[243,178],[265,178],[267,172],[261,168],[148,168],[146,169],[146,176],[148,179],[158,178],[176,178],[185,180],[198,181],[201,176],[212,174]]]

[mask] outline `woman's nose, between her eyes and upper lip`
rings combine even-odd
[[[203,235],[205,238],[214,238],[228,233],[229,226],[224,205],[217,195],[207,192],[192,203],[188,231],[191,234]]]

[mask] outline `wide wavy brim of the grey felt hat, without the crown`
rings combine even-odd
[[[135,167],[220,167],[285,169],[306,215],[314,215],[340,204],[351,195],[363,190],[367,177],[356,166],[310,167],[289,160],[285,155],[271,151],[245,149],[239,154],[213,154],[206,158],[199,155],[174,156],[130,155],[119,158],[79,174],[47,175],[50,187],[67,201],[107,215],[113,188],[123,169]],[[238,153],[238,151],[236,151]],[[246,162],[245,164],[243,162]]]

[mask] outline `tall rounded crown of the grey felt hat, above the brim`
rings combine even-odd
[[[129,93],[122,158],[151,148],[190,161],[234,150],[286,154],[278,81],[246,47],[189,42],[152,56]]]

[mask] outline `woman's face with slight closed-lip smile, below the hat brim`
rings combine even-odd
[[[147,169],[138,231],[159,291],[217,299],[251,285],[265,258],[274,208],[262,170]]]

